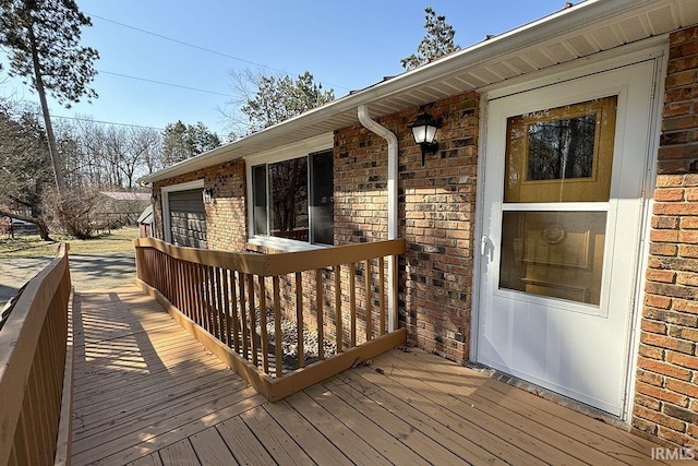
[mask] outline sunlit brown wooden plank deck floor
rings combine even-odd
[[[642,465],[652,443],[420,350],[268,403],[134,288],[77,294],[72,462]]]

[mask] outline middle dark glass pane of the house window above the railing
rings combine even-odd
[[[272,236],[308,241],[308,157],[268,167]]]

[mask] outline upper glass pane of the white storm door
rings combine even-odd
[[[504,202],[597,202],[611,192],[617,97],[507,119]]]

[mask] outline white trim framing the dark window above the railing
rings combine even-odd
[[[269,151],[244,157],[245,176],[248,181],[248,242],[254,246],[277,249],[279,251],[308,251],[328,248],[326,244],[312,244],[306,241],[298,241],[288,238],[276,238],[273,236],[254,235],[254,205],[253,186],[252,186],[252,167],[264,164],[275,164],[278,162],[290,160],[292,158],[308,157],[310,154],[332,151],[335,143],[333,133],[325,133],[318,136],[309,138],[294,144],[288,144],[275,147]],[[267,199],[268,200],[268,199]],[[312,222],[312,220],[311,220]]]

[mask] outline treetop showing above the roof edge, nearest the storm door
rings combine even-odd
[[[400,60],[402,68],[412,70],[430,61],[436,60],[445,55],[460,50],[460,46],[454,43],[456,32],[453,26],[446,23],[446,16],[436,15],[431,7],[424,9],[426,34],[417,47],[417,53],[412,53]]]

